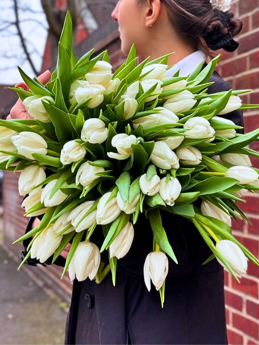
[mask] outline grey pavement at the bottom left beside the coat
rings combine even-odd
[[[64,344],[64,302],[17,267],[0,247],[0,344]]]

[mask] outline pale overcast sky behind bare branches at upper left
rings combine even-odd
[[[26,37],[31,59],[36,69],[40,70],[48,28],[45,13],[42,11],[40,0],[18,0],[17,2],[20,8],[21,31]],[[0,84],[4,85],[21,81],[17,66],[20,66],[30,77],[35,77],[29,63],[24,61],[16,27],[9,26],[14,20],[13,0],[0,0]]]

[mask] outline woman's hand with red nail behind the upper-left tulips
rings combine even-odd
[[[43,84],[46,85],[47,82],[50,80],[51,73],[49,70],[42,73],[37,79]],[[26,83],[21,82],[15,85],[16,87],[22,87],[25,91],[29,91],[28,86]],[[32,119],[32,117],[28,114],[28,111],[25,109],[25,106],[22,104],[22,100],[19,98],[15,105],[10,110],[10,114],[6,118],[7,120],[11,119]]]

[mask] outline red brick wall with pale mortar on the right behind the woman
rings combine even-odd
[[[233,1],[233,11],[243,22],[240,46],[234,53],[222,52],[219,72],[233,89],[254,89],[242,97],[244,102],[259,103],[259,1]],[[244,112],[245,131],[259,127],[257,109]],[[259,142],[252,145],[259,149]],[[252,158],[259,168],[259,159]],[[239,207],[252,224],[233,222],[233,235],[257,257],[259,251],[259,194],[246,194],[246,204]],[[249,262],[247,274],[238,284],[225,271],[225,299],[229,344],[259,344],[259,267]]]

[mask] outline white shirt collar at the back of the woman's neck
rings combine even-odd
[[[180,70],[179,77],[189,76],[196,67],[198,67],[203,59],[206,59],[206,55],[201,50],[197,50],[194,53],[186,56],[181,61],[177,62],[173,67],[166,71],[166,78],[172,78],[174,73]]]

